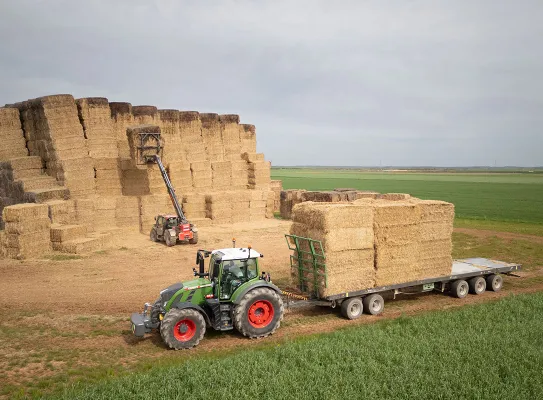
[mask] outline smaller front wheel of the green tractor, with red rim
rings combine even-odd
[[[182,332],[186,329],[185,332]],[[187,332],[189,332],[187,334]],[[192,332],[192,333],[191,333]],[[170,349],[190,349],[200,343],[206,333],[206,322],[200,312],[191,308],[172,308],[160,324],[162,340]]]

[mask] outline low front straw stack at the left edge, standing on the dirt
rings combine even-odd
[[[23,203],[4,208],[3,252],[9,258],[36,258],[51,251],[51,220],[46,204]]]

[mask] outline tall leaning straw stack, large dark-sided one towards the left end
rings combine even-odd
[[[75,100],[70,95],[40,97],[18,105],[30,155],[40,156],[47,173],[74,198],[94,194],[94,170]]]

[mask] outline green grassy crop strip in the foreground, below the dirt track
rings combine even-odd
[[[541,313],[543,293],[511,296],[190,359],[53,398],[541,398]]]

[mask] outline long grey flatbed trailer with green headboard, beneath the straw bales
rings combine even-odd
[[[341,307],[341,313],[349,319],[359,318],[363,312],[379,315],[384,309],[385,297],[396,298],[399,294],[423,292],[448,292],[453,297],[464,298],[469,293],[480,295],[486,290],[499,291],[503,286],[503,275],[515,275],[520,264],[496,261],[487,258],[466,258],[454,260],[450,275],[378,286],[320,297],[319,285],[326,285],[326,255],[322,244],[311,238],[285,235],[291,255],[291,267],[297,269],[298,287],[301,293],[283,291],[287,308],[309,305]],[[304,244],[302,246],[302,244]],[[291,246],[293,245],[293,246]],[[302,250],[302,247],[307,250]],[[308,282],[313,283],[314,292],[309,293]],[[297,299],[292,300],[291,299]]]

